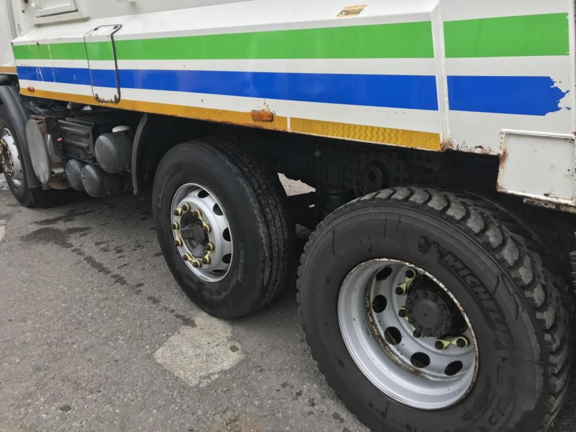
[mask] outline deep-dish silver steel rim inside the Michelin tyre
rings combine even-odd
[[[386,268],[392,270],[389,276],[377,280],[377,274]],[[463,334],[469,343],[467,347],[458,347],[452,340],[448,347],[439,350],[435,346],[438,338],[414,337],[412,324],[406,317],[399,316],[407,296],[395,292],[402,283],[410,286],[406,276],[410,269],[434,281],[460,310],[467,324]],[[382,274],[386,272],[388,270]],[[374,304],[378,304],[376,310],[384,304],[383,301],[375,303],[378,295],[387,300],[381,312],[374,310]],[[478,343],[468,316],[438,279],[410,263],[375,259],[355,267],[340,289],[338,321],[344,343],[362,373],[380,391],[400,403],[422,410],[447,408],[462,400],[476,381]],[[390,327],[400,332],[399,343],[395,343],[397,333],[389,330]],[[416,367],[411,361],[415,353],[426,354],[430,359],[429,365],[420,367],[422,363],[416,362]],[[462,367],[452,374],[459,366],[454,362],[461,362]],[[446,374],[447,371],[452,375]]]

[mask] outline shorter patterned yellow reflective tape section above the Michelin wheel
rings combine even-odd
[[[440,134],[360,124],[290,118],[290,131],[358,141],[378,142],[426,150],[441,150]]]

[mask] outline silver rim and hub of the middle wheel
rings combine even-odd
[[[206,282],[225,278],[233,259],[232,232],[216,196],[199,184],[184,184],[170,213],[175,247],[188,268]]]

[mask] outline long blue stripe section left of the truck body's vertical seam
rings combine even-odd
[[[120,86],[371,107],[438,109],[433,75],[298,74],[119,70]],[[21,79],[91,85],[88,69],[18,67]],[[115,71],[93,70],[94,86],[116,87]]]

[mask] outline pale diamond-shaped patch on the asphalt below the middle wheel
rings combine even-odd
[[[202,313],[195,327],[184,325],[158,348],[154,359],[191,386],[203,387],[244,359],[226,321]]]

